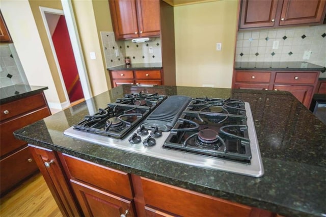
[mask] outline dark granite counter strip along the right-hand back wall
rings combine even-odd
[[[235,62],[234,68],[237,70],[294,70],[321,72],[326,70],[323,66],[307,62]]]

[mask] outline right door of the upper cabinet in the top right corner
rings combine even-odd
[[[284,0],[279,25],[321,23],[324,0]]]

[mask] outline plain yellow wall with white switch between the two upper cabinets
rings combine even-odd
[[[237,10],[238,0],[174,8],[178,86],[231,87]]]

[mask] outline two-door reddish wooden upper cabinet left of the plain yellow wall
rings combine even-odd
[[[116,40],[160,35],[159,0],[109,0]]]

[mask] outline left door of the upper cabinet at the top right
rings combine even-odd
[[[277,0],[243,0],[239,28],[270,27],[275,25]]]

